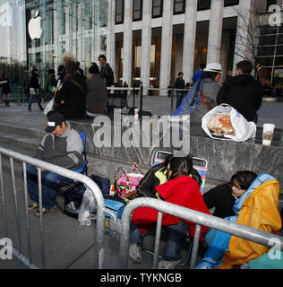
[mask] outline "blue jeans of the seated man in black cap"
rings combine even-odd
[[[50,209],[55,206],[60,183],[64,179],[64,177],[53,172],[41,172],[43,208]],[[32,165],[27,166],[27,181],[30,198],[39,203],[38,170]]]

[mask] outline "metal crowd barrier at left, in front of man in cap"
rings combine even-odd
[[[7,149],[0,147],[0,187],[1,187],[1,197],[2,197],[2,207],[3,207],[3,221],[4,221],[4,235],[8,238],[8,224],[6,217],[6,208],[5,208],[5,196],[4,196],[4,177],[3,177],[3,165],[2,165],[2,156],[7,156],[10,158],[11,163],[11,174],[13,182],[13,200],[15,206],[16,214],[16,227],[17,235],[19,239],[19,250],[14,249],[13,254],[15,257],[18,257],[25,265],[28,265],[30,268],[38,268],[32,264],[31,257],[31,244],[30,244],[30,219],[29,219],[29,206],[28,206],[28,188],[27,188],[27,163],[38,167],[38,178],[39,178],[39,230],[40,230],[40,247],[41,247],[41,260],[42,268],[45,268],[45,248],[44,248],[44,229],[43,229],[43,219],[42,219],[42,185],[41,185],[41,169],[48,170],[59,174],[65,178],[71,178],[76,181],[80,181],[89,187],[93,193],[96,203],[97,203],[97,219],[96,219],[96,244],[95,244],[95,268],[102,269],[104,265],[104,237],[105,237],[105,204],[104,198],[101,194],[99,187],[88,177],[74,172],[73,170],[66,170],[64,168],[58,167],[54,164],[47,163],[45,161],[39,161],[37,159],[31,158],[29,156],[23,155],[19,152],[13,152]],[[14,176],[14,167],[13,160],[21,161],[23,165],[23,184],[24,184],[24,200],[25,200],[25,217],[26,217],[26,232],[28,239],[28,254],[29,259],[24,257],[21,254],[21,220],[19,214],[19,206],[17,199],[17,191],[15,187],[15,176]]]

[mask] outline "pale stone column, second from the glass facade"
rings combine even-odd
[[[133,1],[124,0],[123,83],[132,86]]]

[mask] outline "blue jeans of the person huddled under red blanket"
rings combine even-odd
[[[181,249],[188,232],[188,223],[180,220],[178,224],[163,226],[167,242],[165,244],[162,258],[168,261],[181,259]],[[143,239],[150,232],[141,233],[138,227],[133,224],[133,231],[130,235],[130,241],[142,247]]]

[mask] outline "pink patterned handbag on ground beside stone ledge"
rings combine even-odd
[[[136,168],[140,173],[136,173]],[[119,171],[123,171],[124,174],[117,177]],[[133,162],[133,172],[128,173],[123,167],[119,167],[115,173],[115,190],[116,195],[121,198],[132,197],[136,194],[136,187],[139,185],[140,180],[144,177],[144,174],[137,163]]]

